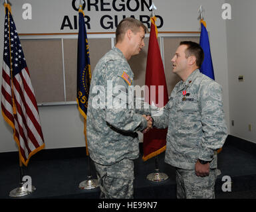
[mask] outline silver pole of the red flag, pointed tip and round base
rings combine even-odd
[[[154,3],[152,3],[150,10],[152,10],[152,17],[155,16],[154,10],[157,9]],[[159,172],[159,165],[158,165],[158,154],[155,156],[155,172],[148,174],[146,177],[147,180],[150,180],[152,182],[162,182],[164,180],[167,180],[169,177],[165,173]]]

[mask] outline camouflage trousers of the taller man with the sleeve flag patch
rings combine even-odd
[[[134,161],[124,158],[110,166],[94,162],[100,199],[132,199],[134,195]]]

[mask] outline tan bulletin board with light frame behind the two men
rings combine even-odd
[[[149,34],[144,39],[145,47],[128,63],[134,72],[134,85],[144,85]],[[65,105],[76,103],[76,58],[77,35],[73,36],[20,36],[35,97],[41,105]],[[172,73],[172,57],[182,40],[199,42],[197,33],[158,33],[158,44],[162,54],[166,83],[170,95],[180,80]],[[88,36],[91,71],[96,63],[115,43],[114,34]]]

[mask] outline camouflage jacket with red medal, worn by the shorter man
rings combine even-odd
[[[216,150],[227,137],[221,85],[195,70],[174,87],[154,127],[168,127],[165,162],[192,170],[197,159],[217,168]]]

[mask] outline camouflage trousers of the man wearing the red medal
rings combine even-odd
[[[209,170],[209,176],[195,175],[195,170],[176,168],[178,199],[215,199],[214,185],[216,169]]]

